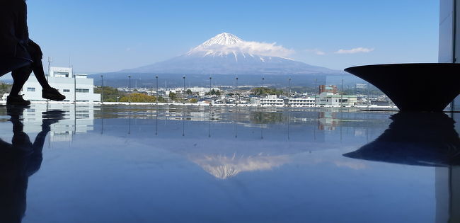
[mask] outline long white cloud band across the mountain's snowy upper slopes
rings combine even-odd
[[[243,52],[251,55],[262,55],[271,57],[287,57],[294,53],[294,50],[290,50],[276,45],[276,42],[249,42],[242,41],[236,42],[232,45],[209,45],[209,46],[198,46],[190,52],[207,52],[207,54],[224,53],[230,54],[233,52]]]

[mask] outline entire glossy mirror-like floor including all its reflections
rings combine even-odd
[[[451,117],[0,107],[0,222],[460,222]]]

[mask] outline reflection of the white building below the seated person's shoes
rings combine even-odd
[[[65,114],[64,120],[51,125],[52,142],[69,142],[74,134],[93,130],[93,105],[33,103],[23,113],[24,132],[40,132],[42,112],[46,110],[62,110]]]

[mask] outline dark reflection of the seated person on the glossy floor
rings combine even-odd
[[[11,143],[0,139],[0,222],[21,222],[25,214],[28,178],[42,164],[42,149],[50,125],[64,119],[64,111],[50,110],[42,113],[42,131],[30,142],[23,132],[23,110],[7,107],[13,124]]]

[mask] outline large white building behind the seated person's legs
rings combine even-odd
[[[86,74],[75,74],[75,77],[72,74],[73,70],[69,67],[51,67],[48,83],[66,96],[64,101],[100,102],[100,94],[94,93],[93,79],[88,79]],[[21,94],[25,100],[47,101],[42,98],[42,87],[32,75],[25,82]]]

